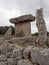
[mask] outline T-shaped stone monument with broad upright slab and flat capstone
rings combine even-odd
[[[15,35],[17,37],[31,36],[30,22],[34,20],[35,17],[32,16],[31,14],[10,19],[10,22],[15,24]]]

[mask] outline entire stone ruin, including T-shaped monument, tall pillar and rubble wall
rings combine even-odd
[[[30,21],[34,21],[35,18],[38,28],[38,37],[36,37],[36,40],[34,40],[34,37],[32,37],[30,33]],[[46,45],[47,29],[42,8],[36,11],[36,17],[25,15],[10,19],[10,21],[15,24],[15,31],[17,32],[15,32],[14,38],[8,40],[8,42],[3,41],[0,44],[0,65],[49,65],[49,48]],[[21,31],[23,31],[22,36],[20,34]],[[26,33],[24,33],[24,31],[26,31]],[[7,35],[11,35],[9,30],[5,34],[5,37]],[[36,44],[36,41],[39,46],[33,45],[33,43]],[[17,43],[32,44],[29,46],[20,46]]]

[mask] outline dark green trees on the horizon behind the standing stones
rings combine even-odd
[[[15,28],[13,26],[0,26],[0,35],[4,35],[6,31],[9,29],[9,27],[12,29],[12,35],[15,34]],[[47,32],[47,35],[49,35],[49,32]],[[32,36],[38,36],[38,32],[32,34]]]

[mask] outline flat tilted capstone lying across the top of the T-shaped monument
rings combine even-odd
[[[11,23],[21,23],[24,21],[34,21],[34,20],[35,20],[35,17],[31,14],[28,14],[28,15],[17,17],[17,18],[12,18],[10,19],[10,22]]]

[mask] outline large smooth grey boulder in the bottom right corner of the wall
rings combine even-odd
[[[31,61],[39,65],[49,65],[49,49],[32,49]]]

